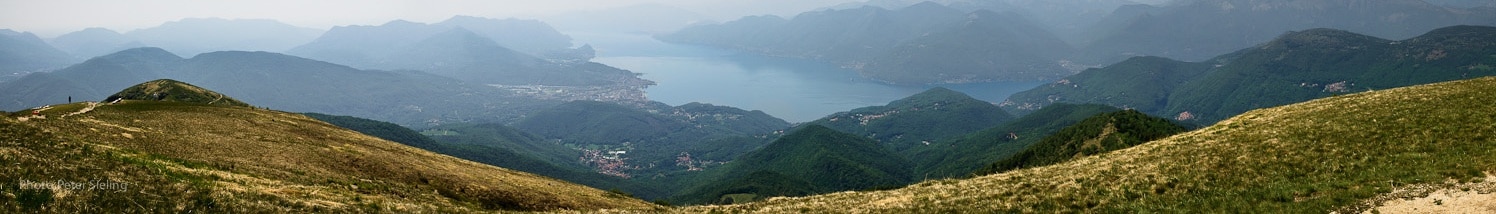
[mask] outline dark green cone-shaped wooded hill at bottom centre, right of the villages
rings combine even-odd
[[[878,142],[823,126],[806,126],[714,172],[717,178],[676,196],[676,202],[757,201],[908,184],[908,160]],[[747,196],[747,198],[744,198]]]

